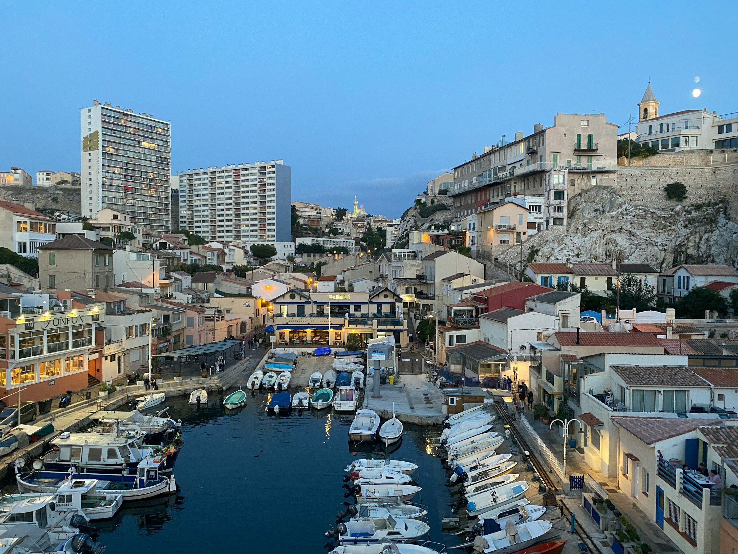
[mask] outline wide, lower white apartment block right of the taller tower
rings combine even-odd
[[[239,244],[292,238],[292,168],[284,160],[190,169],[178,177],[180,229]]]

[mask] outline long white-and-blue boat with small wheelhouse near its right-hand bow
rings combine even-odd
[[[67,479],[97,479],[95,490],[100,493],[120,493],[123,502],[154,498],[162,494],[176,493],[174,476],[164,476],[161,465],[152,458],[139,462],[130,474],[125,473],[69,473],[69,471],[45,471],[34,462],[32,471],[23,471],[23,458],[15,460],[15,480],[18,490],[24,493],[56,493]],[[36,467],[38,465],[38,467]]]

